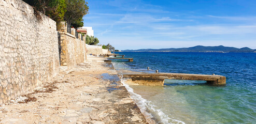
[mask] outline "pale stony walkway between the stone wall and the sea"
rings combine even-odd
[[[103,60],[90,56],[67,74],[62,68],[51,82],[3,104],[0,123],[148,123]]]

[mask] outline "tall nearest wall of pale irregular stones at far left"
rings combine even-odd
[[[21,0],[0,1],[0,104],[59,73],[56,24]]]

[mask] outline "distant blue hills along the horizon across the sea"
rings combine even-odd
[[[123,50],[123,52],[256,52],[256,49],[250,48],[234,48],[223,45],[219,46],[203,46],[197,45],[190,48],[168,48],[168,49],[139,49],[139,50]]]

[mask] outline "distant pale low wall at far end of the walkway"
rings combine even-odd
[[[102,46],[86,44],[87,54],[103,55],[108,54],[108,50],[102,49]]]

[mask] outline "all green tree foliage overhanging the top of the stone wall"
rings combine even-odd
[[[89,7],[84,0],[23,0],[31,5],[37,19],[42,19],[40,12],[46,14],[57,23],[66,21],[74,28],[83,26],[83,16],[88,13]]]

